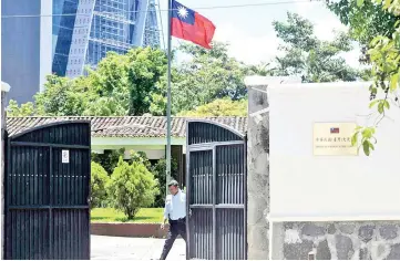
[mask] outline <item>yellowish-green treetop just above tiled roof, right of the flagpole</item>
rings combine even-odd
[[[181,112],[178,116],[247,116],[247,100],[218,98],[193,111]]]

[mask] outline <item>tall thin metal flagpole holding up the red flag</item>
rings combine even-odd
[[[172,0],[168,1],[168,71],[167,71],[167,91],[166,91],[166,195],[168,195],[168,182],[171,181],[171,19],[172,19]]]

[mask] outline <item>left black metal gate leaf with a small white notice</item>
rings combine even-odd
[[[90,122],[7,140],[6,259],[90,259]]]

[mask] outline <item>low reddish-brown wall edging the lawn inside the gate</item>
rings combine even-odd
[[[91,234],[131,238],[165,238],[168,226],[160,223],[91,223]]]

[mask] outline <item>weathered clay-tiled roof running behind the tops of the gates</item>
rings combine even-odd
[[[92,137],[165,137],[166,117],[124,116],[124,117],[8,117],[9,135],[44,124],[64,121],[85,119],[92,123]],[[247,117],[173,117],[172,135],[185,137],[187,119],[208,119],[227,125],[239,133],[247,129]]]

